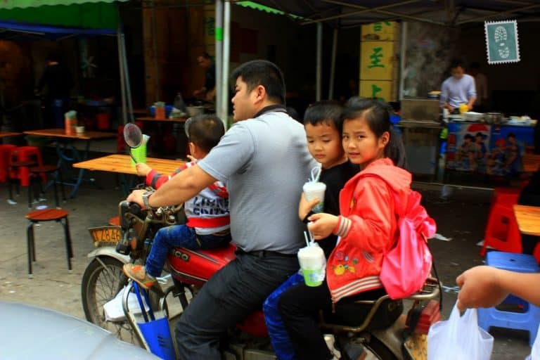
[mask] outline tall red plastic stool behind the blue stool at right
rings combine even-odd
[[[486,255],[488,246],[503,252],[522,252],[520,229],[512,205],[496,203],[491,207],[481,256]]]

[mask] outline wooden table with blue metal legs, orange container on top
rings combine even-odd
[[[65,129],[41,129],[41,130],[29,130],[25,131],[25,134],[34,136],[44,136],[56,139],[56,153],[58,154],[58,167],[68,167],[73,165],[74,162],[80,162],[88,158],[90,150],[90,143],[92,140],[103,139],[115,139],[116,133],[101,132],[101,131],[84,131],[82,134],[65,134]],[[79,153],[79,150],[73,146],[73,141],[82,140],[85,141],[85,147],[83,153]],[[68,155],[70,153],[70,155]],[[75,196],[82,181],[94,179],[85,179],[85,170],[79,169],[79,174],[76,176],[74,182],[64,182],[64,185],[72,186],[73,190],[70,194],[70,198]],[[49,188],[51,184],[48,184],[46,188]]]

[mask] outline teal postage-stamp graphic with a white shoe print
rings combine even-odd
[[[484,23],[489,64],[517,63],[520,60],[518,23],[515,20]]]

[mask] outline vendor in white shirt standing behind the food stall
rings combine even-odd
[[[441,108],[454,113],[460,105],[472,109],[476,100],[475,78],[465,74],[465,65],[461,60],[452,60],[450,65],[452,76],[444,80],[441,86]]]

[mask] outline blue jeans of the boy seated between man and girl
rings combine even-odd
[[[289,334],[285,328],[285,323],[283,323],[281,314],[279,314],[278,301],[285,290],[292,288],[303,281],[304,276],[300,273],[297,272],[291,275],[285,283],[281,284],[279,288],[274,290],[274,293],[271,293],[270,296],[266,298],[262,305],[264,321],[266,321],[270,342],[272,343],[272,347],[274,347],[274,352],[276,353],[278,360],[296,359],[293,342],[290,341]]]

